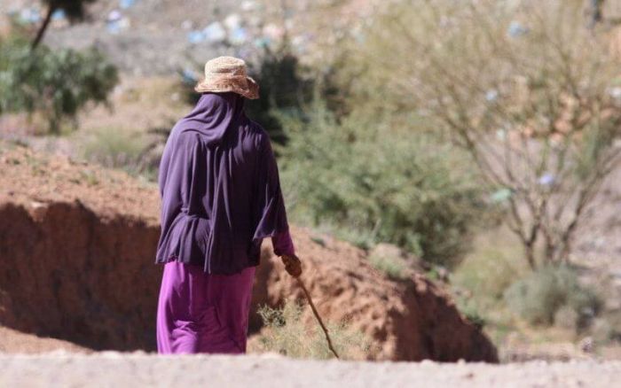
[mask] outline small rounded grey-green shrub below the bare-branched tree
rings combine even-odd
[[[532,324],[551,325],[554,317],[565,327],[586,327],[599,312],[600,299],[578,282],[568,266],[545,266],[513,283],[505,292],[507,306]],[[576,314],[570,314],[569,309]],[[557,314],[559,313],[559,314]],[[573,325],[573,326],[572,326]]]

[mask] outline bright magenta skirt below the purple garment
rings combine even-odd
[[[164,267],[157,309],[161,354],[246,353],[255,267],[208,275],[200,266]]]

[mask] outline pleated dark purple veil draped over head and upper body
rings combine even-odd
[[[203,94],[172,128],[159,185],[158,263],[235,274],[258,265],[264,237],[287,234],[270,138],[235,93]]]

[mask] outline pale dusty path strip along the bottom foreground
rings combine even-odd
[[[491,365],[296,361],[274,355],[0,354],[0,386],[611,387],[620,361]]]

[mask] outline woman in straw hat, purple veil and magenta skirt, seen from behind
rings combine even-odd
[[[258,97],[245,62],[208,61],[195,89],[199,102],[172,128],[160,165],[158,351],[245,353],[263,238],[289,274],[302,268],[270,139],[244,113],[244,99]]]

